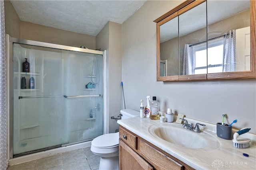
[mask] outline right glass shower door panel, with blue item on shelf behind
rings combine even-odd
[[[92,140],[103,133],[102,55],[63,50],[62,59],[66,110],[62,143]]]

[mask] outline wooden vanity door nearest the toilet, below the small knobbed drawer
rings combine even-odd
[[[140,155],[119,139],[120,170],[153,170],[154,168]]]

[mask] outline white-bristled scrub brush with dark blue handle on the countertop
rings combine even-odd
[[[243,137],[238,137],[239,135],[242,135],[248,131],[250,131],[251,128],[243,128],[240,131],[237,131],[234,133],[233,136],[233,147],[235,148],[248,148],[250,147],[250,139],[248,138],[243,138]]]

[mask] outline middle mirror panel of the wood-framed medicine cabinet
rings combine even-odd
[[[206,26],[206,2],[179,15],[180,75],[196,74],[198,72],[195,67],[207,64],[207,60],[196,62],[198,56],[194,56],[194,48],[191,46],[206,41]],[[206,44],[200,46],[201,49],[206,47]]]

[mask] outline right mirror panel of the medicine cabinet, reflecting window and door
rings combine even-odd
[[[250,0],[208,0],[207,22],[208,73],[250,70]]]

